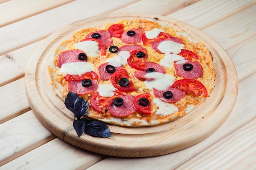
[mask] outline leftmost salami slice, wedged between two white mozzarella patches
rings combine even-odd
[[[62,53],[60,53],[57,60],[58,67],[61,68],[62,64],[70,63],[70,62],[85,62],[86,60],[80,60],[78,58],[78,55],[80,53],[85,53],[85,52],[79,49],[63,51]]]

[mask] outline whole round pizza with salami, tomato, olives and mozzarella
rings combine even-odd
[[[74,30],[48,71],[61,99],[72,91],[88,102],[87,117],[119,126],[174,121],[200,106],[215,80],[202,42],[140,18]]]

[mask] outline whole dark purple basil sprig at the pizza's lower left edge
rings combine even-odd
[[[75,118],[73,126],[78,137],[80,137],[83,132],[94,137],[113,136],[108,126],[106,126],[103,122],[95,119],[89,120],[83,117],[89,108],[88,102],[86,102],[83,97],[79,98],[79,95],[69,91],[64,104],[68,110],[74,113]]]

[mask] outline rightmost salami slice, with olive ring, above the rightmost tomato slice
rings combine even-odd
[[[197,61],[181,60],[174,64],[175,72],[185,79],[197,79],[203,75],[203,68]]]

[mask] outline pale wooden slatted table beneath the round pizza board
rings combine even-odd
[[[238,97],[208,138],[162,156],[110,157],[67,144],[38,121],[24,84],[38,44],[76,20],[117,12],[181,20],[227,51],[238,73]],[[0,170],[256,169],[256,0],[0,0],[0,18]]]

